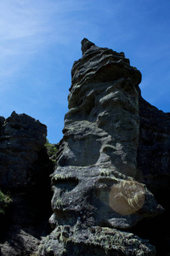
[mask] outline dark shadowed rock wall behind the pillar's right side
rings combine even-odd
[[[139,97],[138,168],[154,193],[170,182],[170,113],[163,113]]]

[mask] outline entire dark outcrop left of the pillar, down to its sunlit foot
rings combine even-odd
[[[26,114],[0,117],[0,189],[12,204],[0,215],[0,255],[31,255],[49,232],[47,127]]]

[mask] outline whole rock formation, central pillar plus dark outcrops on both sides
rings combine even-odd
[[[140,82],[123,53],[84,38],[55,167],[46,125],[0,117],[0,255],[169,255],[170,113]]]

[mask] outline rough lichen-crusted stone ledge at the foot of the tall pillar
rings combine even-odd
[[[41,255],[155,255],[155,247],[132,233],[111,228],[58,226],[44,240]],[[55,251],[55,254],[54,254]]]

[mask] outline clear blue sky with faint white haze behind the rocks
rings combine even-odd
[[[169,11],[169,0],[1,0],[0,115],[31,115],[58,143],[82,38],[123,51],[144,99],[170,112]]]

